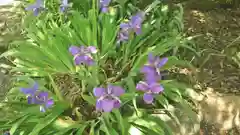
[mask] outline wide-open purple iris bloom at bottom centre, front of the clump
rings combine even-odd
[[[120,86],[108,85],[107,88],[94,88],[93,94],[98,98],[96,109],[104,112],[111,112],[114,108],[119,108],[121,101],[119,96],[124,94],[124,89]]]

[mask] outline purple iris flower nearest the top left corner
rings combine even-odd
[[[41,10],[44,9],[43,6],[43,1],[42,0],[36,0],[36,2],[32,5],[29,5],[28,7],[25,8],[25,10],[33,10],[33,14],[37,16]]]

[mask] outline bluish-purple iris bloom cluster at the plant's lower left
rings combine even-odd
[[[35,82],[30,88],[20,88],[20,90],[27,95],[28,104],[40,105],[40,111],[46,112],[46,109],[50,108],[54,101],[49,99],[48,92],[38,91],[39,86]]]

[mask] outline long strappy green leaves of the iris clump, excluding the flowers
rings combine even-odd
[[[142,34],[131,33],[130,39],[118,46],[119,24],[139,11],[134,6],[136,3],[116,0],[105,14],[98,12],[95,0],[78,3],[73,0],[73,8],[60,14],[57,1],[47,1],[47,12],[38,17],[26,16],[26,39],[14,42],[15,46],[1,55],[15,65],[11,72],[16,76],[16,86],[3,102],[2,108],[8,110],[9,116],[0,129],[9,129],[13,135],[135,134],[131,129],[143,134],[171,135],[172,129],[160,118],[153,117],[151,111],[165,109],[170,117],[176,118],[168,110],[168,105],[174,103],[185,106],[183,111],[191,116],[193,112],[184,95],[186,86],[174,80],[162,80],[165,90],[149,108],[142,105],[139,98],[142,94],[136,92],[136,83],[141,77],[139,69],[147,62],[150,52],[168,56],[162,70],[179,65],[191,67],[173,55],[180,47],[190,48],[182,36],[181,6],[170,12],[158,1],[150,4],[145,9]],[[71,45],[95,46],[98,49],[95,65],[75,66],[68,52]],[[61,75],[69,78],[59,81]],[[31,79],[54,98],[54,106],[46,113],[39,112],[36,105],[27,104],[25,95],[19,91],[26,82],[33,82]],[[109,83],[125,88],[126,93],[120,97],[122,106],[111,113],[99,114],[95,111],[92,90]]]

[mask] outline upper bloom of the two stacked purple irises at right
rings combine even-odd
[[[168,58],[160,59],[159,57],[154,56],[152,53],[149,53],[148,64],[143,66],[143,68],[141,69],[141,72],[149,76],[154,76],[154,75],[155,77],[160,76],[160,68],[164,66],[167,63],[167,61],[168,61]]]

